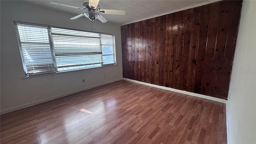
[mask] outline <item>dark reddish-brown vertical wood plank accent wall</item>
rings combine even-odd
[[[227,99],[242,1],[121,26],[123,77]]]

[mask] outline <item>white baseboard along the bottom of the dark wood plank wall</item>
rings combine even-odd
[[[196,94],[196,93],[187,92],[187,91],[184,91],[184,90],[177,90],[177,89],[168,88],[168,87],[165,87],[165,86],[158,86],[158,85],[155,85],[155,84],[149,84],[149,83],[146,83],[146,82],[140,82],[140,81],[131,80],[131,79],[128,79],[128,78],[123,78],[123,80],[127,80],[127,81],[130,81],[130,82],[135,82],[135,83],[138,83],[138,84],[144,84],[144,85],[152,86],[152,87],[155,87],[155,88],[161,88],[161,89],[164,89],[164,90],[170,90],[172,92],[178,92],[178,93],[181,93],[181,94],[187,94],[187,95],[190,95],[190,96],[196,96],[196,97],[204,98],[204,99],[207,99],[207,100],[214,100],[216,102],[222,102],[222,103],[225,103],[225,104],[227,103],[227,100],[223,100],[223,99],[220,99],[220,98],[214,98],[212,96],[206,96],[206,95],[203,95],[203,94]]]

